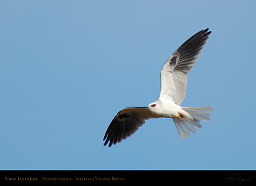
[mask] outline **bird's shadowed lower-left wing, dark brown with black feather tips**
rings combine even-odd
[[[155,117],[148,107],[127,107],[116,114],[105,133],[103,140],[104,146],[110,141],[112,144],[121,142],[130,137],[134,132],[145,123],[146,119]]]

